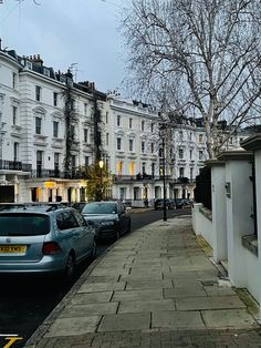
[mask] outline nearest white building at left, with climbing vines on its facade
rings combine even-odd
[[[40,55],[13,50],[0,50],[0,202],[85,199],[82,167],[94,161],[94,85],[75,85],[70,72],[55,73]]]

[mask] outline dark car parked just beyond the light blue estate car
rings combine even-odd
[[[121,202],[86,203],[82,215],[88,224],[95,226],[97,238],[118,239],[130,232],[130,216]]]

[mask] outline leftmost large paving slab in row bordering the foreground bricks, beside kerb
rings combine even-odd
[[[58,318],[44,337],[59,337],[94,332],[101,321],[101,316]]]

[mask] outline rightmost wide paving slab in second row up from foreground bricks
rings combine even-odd
[[[238,296],[212,296],[177,298],[178,310],[202,310],[202,309],[231,309],[246,308],[246,305]]]

